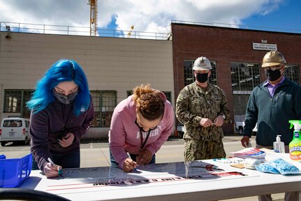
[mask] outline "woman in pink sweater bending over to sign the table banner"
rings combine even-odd
[[[140,85],[120,102],[109,132],[111,165],[130,172],[137,165],[155,163],[155,153],[172,133],[175,114],[166,95]]]

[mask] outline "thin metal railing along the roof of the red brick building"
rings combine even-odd
[[[227,27],[227,28],[236,28],[236,29],[251,29],[258,31],[267,31],[267,32],[286,32],[286,33],[295,33],[301,34],[301,29],[282,29],[282,28],[274,28],[274,27],[258,27],[258,26],[249,26],[249,25],[235,25],[235,24],[226,24],[219,22],[189,22],[189,21],[181,21],[181,20],[172,20],[172,23],[178,24],[186,24],[186,25],[205,25],[212,27]]]

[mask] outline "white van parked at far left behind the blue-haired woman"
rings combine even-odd
[[[0,128],[1,146],[5,146],[9,141],[24,141],[24,144],[29,143],[29,119],[3,118]]]

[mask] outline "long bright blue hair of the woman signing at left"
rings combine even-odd
[[[87,77],[78,63],[62,59],[46,71],[43,78],[36,83],[36,90],[27,102],[27,107],[38,113],[54,102],[53,89],[61,82],[74,81],[78,85],[78,95],[73,101],[73,113],[79,116],[82,109],[87,111],[91,99]]]

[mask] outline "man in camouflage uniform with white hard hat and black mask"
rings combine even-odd
[[[206,57],[193,64],[196,82],[186,85],[177,97],[176,115],[186,128],[184,160],[225,158],[221,125],[229,118],[226,95],[207,82],[212,66]]]

